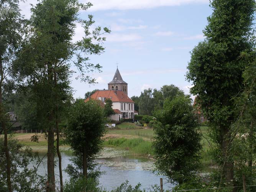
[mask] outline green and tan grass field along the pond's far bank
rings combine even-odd
[[[201,140],[203,149],[201,153],[200,162],[204,166],[211,166],[214,164],[212,156],[210,153],[210,141],[207,136],[207,126],[201,126],[203,137]],[[34,151],[47,150],[47,141],[44,138],[44,134],[38,133],[39,142],[31,142],[31,136],[34,133],[16,133],[13,134],[21,144],[25,146],[30,146]],[[2,136],[2,135],[1,135]],[[146,156],[147,154],[153,154],[151,141],[154,136],[154,131],[152,128],[144,128],[135,126],[133,123],[121,123],[115,129],[108,129],[107,134],[104,137],[104,146],[117,147],[122,149],[128,149],[134,155]],[[207,141],[207,139],[208,141]],[[62,145],[62,150],[68,150],[69,146]]]

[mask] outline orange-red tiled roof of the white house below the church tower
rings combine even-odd
[[[126,102],[126,103],[134,103],[123,91],[121,90],[98,90],[90,97],[85,99],[85,102],[90,99],[98,100],[99,97],[109,98],[112,102]]]

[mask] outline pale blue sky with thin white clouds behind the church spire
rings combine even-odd
[[[20,3],[21,12],[30,17],[30,3]],[[80,0],[87,3],[87,0]],[[89,56],[100,64],[102,73],[91,73],[97,84],[89,85],[72,77],[75,98],[87,91],[108,89],[115,71],[128,83],[128,96],[139,96],[144,89],[160,89],[174,84],[189,94],[191,83],[185,79],[190,51],[203,40],[203,29],[212,9],[209,0],[91,0],[93,6],[80,12],[80,18],[93,15],[93,27],[108,27],[104,34],[105,52]],[[83,36],[77,25],[73,41]]]

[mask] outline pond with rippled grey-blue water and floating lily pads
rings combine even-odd
[[[39,153],[43,158],[46,152]],[[72,153],[70,151],[64,151],[62,156],[62,170],[71,164],[70,158]],[[58,163],[56,157],[56,164]],[[121,183],[126,180],[129,184],[135,187],[138,183],[141,183],[141,189],[148,189],[151,185],[160,185],[160,178],[163,178],[164,189],[170,189],[172,185],[167,183],[166,177],[157,176],[153,174],[154,161],[148,158],[138,158],[130,156],[126,150],[118,150],[114,148],[104,148],[101,156],[96,160],[100,165],[100,170],[104,171],[100,177],[100,186],[107,190],[112,190],[120,186]],[[47,158],[45,157],[42,163],[38,167],[38,173],[45,175],[47,173]],[[59,182],[59,169],[55,167],[56,182]],[[66,172],[62,172],[63,181],[69,180],[69,176]]]

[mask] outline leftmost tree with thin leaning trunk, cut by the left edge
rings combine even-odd
[[[7,169],[8,190],[11,187],[11,161],[8,149],[6,126],[6,110],[3,103],[3,87],[8,84],[12,72],[13,61],[16,59],[16,53],[20,48],[23,36],[23,17],[20,14],[18,0],[0,0],[0,123],[1,132],[4,132],[4,150]]]

